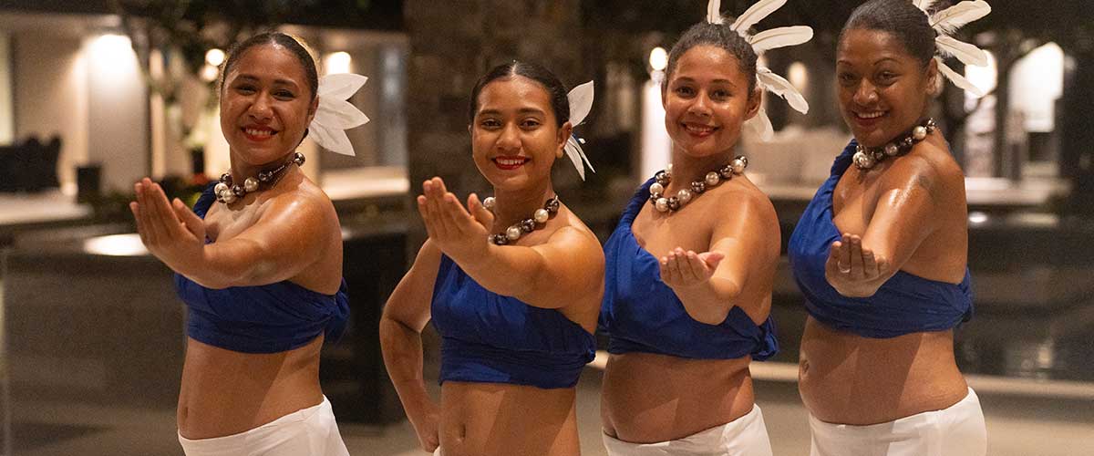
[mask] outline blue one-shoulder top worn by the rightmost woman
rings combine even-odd
[[[847,297],[828,284],[825,262],[831,243],[841,237],[833,222],[833,190],[851,165],[856,145],[852,140],[836,157],[831,175],[805,208],[790,237],[790,266],[805,294],[810,315],[837,330],[871,338],[940,331],[967,321],[973,316],[968,268],[957,284],[897,271],[870,297]]]

